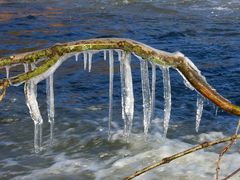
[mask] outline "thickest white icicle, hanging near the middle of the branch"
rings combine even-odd
[[[122,117],[124,120],[124,134],[127,140],[131,133],[134,114],[134,96],[130,62],[131,54],[125,52],[120,61],[120,73],[122,90]]]

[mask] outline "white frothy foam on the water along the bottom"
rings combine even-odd
[[[112,141],[122,140],[122,131],[114,134]],[[210,132],[200,134],[199,140],[212,140],[222,137],[222,133]],[[128,148],[120,148],[116,156],[111,158],[68,158],[64,154],[55,156],[55,163],[48,168],[33,170],[25,176],[17,176],[14,179],[47,179],[68,177],[84,177],[85,172],[94,179],[123,179],[136,170],[158,162],[164,157],[191,148],[194,145],[177,139],[162,138],[161,134],[149,135],[148,142],[143,141],[144,135],[132,134]],[[200,142],[199,142],[200,143]],[[157,167],[135,179],[215,179],[215,168],[218,154],[207,150],[200,150],[192,154],[176,159],[168,164]],[[227,153],[221,161],[220,179],[239,168],[240,154],[238,152]],[[231,179],[237,180],[240,174]]]

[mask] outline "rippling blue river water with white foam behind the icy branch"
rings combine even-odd
[[[181,51],[224,97],[240,105],[240,2],[238,0],[0,0],[0,56],[57,42],[131,38],[157,49]],[[133,59],[135,113],[129,142],[122,136],[119,62],[115,57],[112,137],[108,140],[108,62],[93,58],[92,72],[74,58],[54,74],[56,124],[49,146],[45,82],[38,86],[44,117],[43,151],[33,149],[33,121],[23,86],[10,87],[0,104],[0,179],[122,179],[195,144],[229,136],[238,117],[205,100],[195,132],[197,94],[170,70],[172,113],[163,139],[163,82],[157,69],[155,118],[143,133],[141,76]],[[12,70],[10,75],[17,73]],[[1,71],[1,77],[4,77]],[[217,113],[216,113],[217,112]],[[196,152],[137,179],[214,179],[223,146]],[[239,168],[239,145],[222,161],[221,177]],[[235,175],[232,179],[239,179]]]

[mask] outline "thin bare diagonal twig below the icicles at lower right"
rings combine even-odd
[[[172,156],[169,156],[169,157],[166,157],[166,158],[163,158],[162,160],[160,160],[159,162],[155,163],[155,164],[152,164],[150,166],[147,166],[139,171],[136,171],[134,174],[132,174],[131,176],[128,176],[128,177],[125,177],[124,180],[130,180],[130,179],[133,179],[147,171],[150,171],[158,166],[161,166],[163,164],[167,164],[175,159],[178,159],[182,156],[185,156],[187,154],[190,154],[190,153],[193,153],[193,152],[196,152],[196,151],[199,151],[201,149],[205,149],[205,148],[208,148],[208,147],[211,147],[211,146],[214,146],[216,144],[220,144],[220,143],[224,143],[224,142],[229,142],[229,141],[234,141],[236,139],[240,139],[240,135],[233,135],[231,137],[227,137],[227,138],[223,138],[223,139],[219,139],[219,140],[216,140],[216,141],[211,141],[211,142],[204,142],[202,144],[199,144],[197,146],[194,146],[190,149],[187,149],[185,151],[182,151],[182,152],[179,152],[177,154],[174,154]]]

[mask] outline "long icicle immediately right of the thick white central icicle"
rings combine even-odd
[[[144,133],[147,135],[151,120],[151,94],[148,77],[148,62],[140,60],[141,79],[142,79],[142,96],[143,96],[143,125]]]

